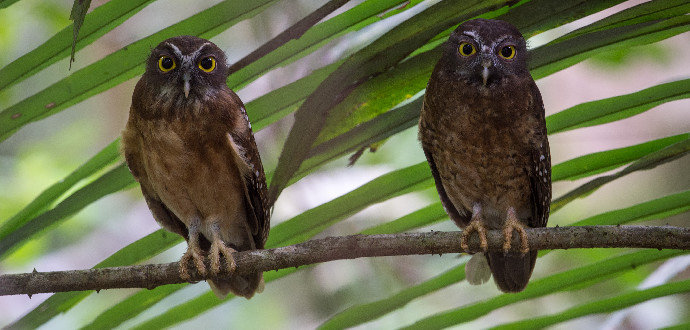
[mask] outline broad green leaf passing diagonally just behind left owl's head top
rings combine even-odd
[[[224,1],[106,56],[0,112],[0,141],[22,126],[53,115],[144,71],[160,41],[177,35],[212,37],[259,13],[277,0]]]

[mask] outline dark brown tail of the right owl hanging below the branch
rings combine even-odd
[[[537,261],[537,251],[525,255],[519,252],[487,252],[486,259],[498,288],[503,292],[520,292],[525,289]]]

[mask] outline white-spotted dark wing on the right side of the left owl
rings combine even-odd
[[[240,115],[234,116],[239,123],[234,129],[228,131],[228,135],[232,139],[231,144],[234,144],[233,148],[236,148],[236,154],[240,157],[239,166],[243,167],[240,173],[245,183],[247,209],[251,211],[249,220],[254,242],[257,248],[263,248],[271,226],[266,174],[244,104],[235,93],[230,92],[230,94]]]

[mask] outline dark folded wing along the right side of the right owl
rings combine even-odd
[[[532,95],[535,96],[533,102],[533,113],[539,116],[540,128],[538,134],[540,138],[535,139],[532,146],[532,161],[526,169],[530,180],[532,219],[530,227],[546,227],[549,219],[551,206],[551,154],[549,152],[549,141],[546,137],[546,124],[544,121],[544,103],[537,86],[533,84]]]

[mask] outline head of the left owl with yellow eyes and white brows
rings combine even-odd
[[[203,100],[225,85],[228,64],[214,43],[193,36],[167,39],[151,51],[142,77],[165,102]]]

